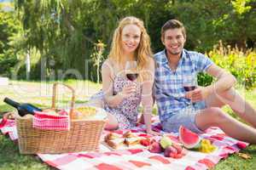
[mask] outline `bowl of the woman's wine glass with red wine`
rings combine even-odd
[[[133,82],[137,79],[137,77],[138,77],[137,61],[126,61],[125,75],[131,82]]]

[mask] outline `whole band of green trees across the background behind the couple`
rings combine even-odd
[[[189,50],[209,52],[219,40],[231,47],[237,44],[240,48],[253,48],[255,8],[254,0],[15,0],[23,26],[22,47],[36,48],[41,57],[37,65],[32,65],[32,77],[41,77],[40,69],[45,68],[49,80],[59,71],[75,69],[82,78],[96,81],[97,67],[90,58],[95,53],[94,44],[98,39],[106,43],[102,54],[105,59],[113,30],[118,20],[127,15],[144,21],[155,53],[163,48],[160,27],[170,19],[183,21]]]

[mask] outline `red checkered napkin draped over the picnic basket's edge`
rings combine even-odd
[[[69,130],[70,119],[67,111],[58,112],[59,115],[51,115],[47,112],[35,111],[33,127],[45,130]]]

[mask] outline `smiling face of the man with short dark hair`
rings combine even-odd
[[[180,28],[166,30],[161,40],[166,47],[167,54],[171,55],[180,55],[186,42]]]

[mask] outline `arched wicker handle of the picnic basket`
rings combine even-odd
[[[65,86],[65,87],[69,88],[72,92],[71,105],[70,105],[70,111],[69,111],[69,117],[72,119],[73,118],[73,107],[74,107],[74,101],[75,101],[75,90],[71,86],[68,86],[67,84],[64,84],[62,82],[55,82],[54,83],[51,109],[55,110],[56,94],[57,94],[57,86],[58,85]]]

